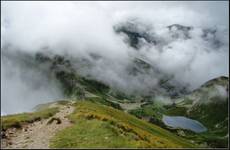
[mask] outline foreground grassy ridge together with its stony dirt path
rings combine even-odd
[[[165,129],[98,101],[71,101],[71,103],[70,101],[61,101],[60,104],[58,102],[47,104],[40,111],[51,109],[50,107],[58,108],[59,112],[47,119],[15,122],[13,117],[17,120],[25,114],[3,117],[3,125],[8,122],[8,126],[4,127],[5,130],[8,130],[4,132],[7,140],[3,141],[5,142],[2,145],[3,148],[195,146],[188,140],[177,137]],[[75,111],[64,112],[70,108],[74,108]],[[65,123],[66,117],[69,118],[69,125]],[[60,123],[51,122],[50,120],[53,118],[60,119]],[[49,122],[51,123],[49,124]],[[20,127],[15,126],[18,123],[20,123]],[[14,131],[13,135],[12,130]],[[47,143],[49,140],[50,143]]]

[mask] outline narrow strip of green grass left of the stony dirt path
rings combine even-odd
[[[1,117],[2,130],[6,130],[11,127],[21,128],[22,125],[32,123],[41,119],[49,118],[58,112],[58,108],[48,108],[42,111],[36,111],[32,113],[21,113],[15,115],[7,115]]]

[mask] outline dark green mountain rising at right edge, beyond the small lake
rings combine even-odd
[[[215,78],[176,102],[178,107],[184,108],[184,115],[208,128],[203,138],[213,147],[228,145],[228,82],[228,77]]]

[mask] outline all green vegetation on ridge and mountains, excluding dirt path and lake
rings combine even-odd
[[[176,99],[174,105],[163,105],[153,102],[151,96],[139,95],[140,98],[136,98],[135,95],[112,90],[96,80],[81,77],[64,57],[55,56],[52,60],[38,55],[37,60],[52,62],[51,74],[54,74],[60,82],[64,94],[68,98],[78,100],[74,105],[75,112],[68,116],[73,125],[53,137],[50,143],[52,148],[221,148],[228,146],[228,100],[210,96],[212,95],[210,91],[215,89],[214,85],[217,82],[219,85],[227,86],[226,77],[205,83],[191,94]],[[136,60],[135,63],[144,69],[149,68],[141,60]],[[175,93],[174,87],[168,84],[168,79],[160,81],[160,85]],[[85,93],[92,93],[94,97],[86,97]],[[136,100],[140,102],[144,100],[146,103],[140,108],[129,110],[129,114],[122,111],[119,103],[122,105]],[[194,105],[194,100],[201,102]],[[68,103],[64,100],[57,102],[58,105]],[[2,116],[2,130],[11,127],[21,128],[24,124],[52,117],[58,112],[58,108],[49,108],[50,104],[52,103],[37,106],[35,108],[37,111],[33,113]],[[162,122],[163,114],[186,116],[198,120],[208,128],[208,131],[198,134],[189,130],[170,129]],[[53,121],[61,123],[59,118],[52,117],[48,124]]]

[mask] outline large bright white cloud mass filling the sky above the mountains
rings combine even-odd
[[[173,74],[179,83],[190,84],[191,89],[214,77],[228,76],[228,2],[34,1],[1,4],[1,51],[11,44],[17,50],[32,54],[46,46],[53,53],[67,53],[78,58],[90,59],[89,54],[96,53],[102,59],[95,61],[93,68],[81,72],[121,90],[143,92],[157,85],[159,77],[154,73],[137,77],[127,74],[132,57],[140,55],[164,73]],[[114,25],[129,18],[149,24],[152,27],[149,32],[162,44],[154,46],[143,40],[145,46],[139,52],[130,48],[124,43],[124,37],[113,30]],[[175,23],[193,26],[191,39],[170,38],[166,26]],[[201,38],[203,28],[214,27],[217,29],[215,38],[208,41]],[[212,45],[215,39],[221,41],[220,47]],[[16,87],[14,82],[9,84]],[[3,87],[2,93],[6,90]]]

